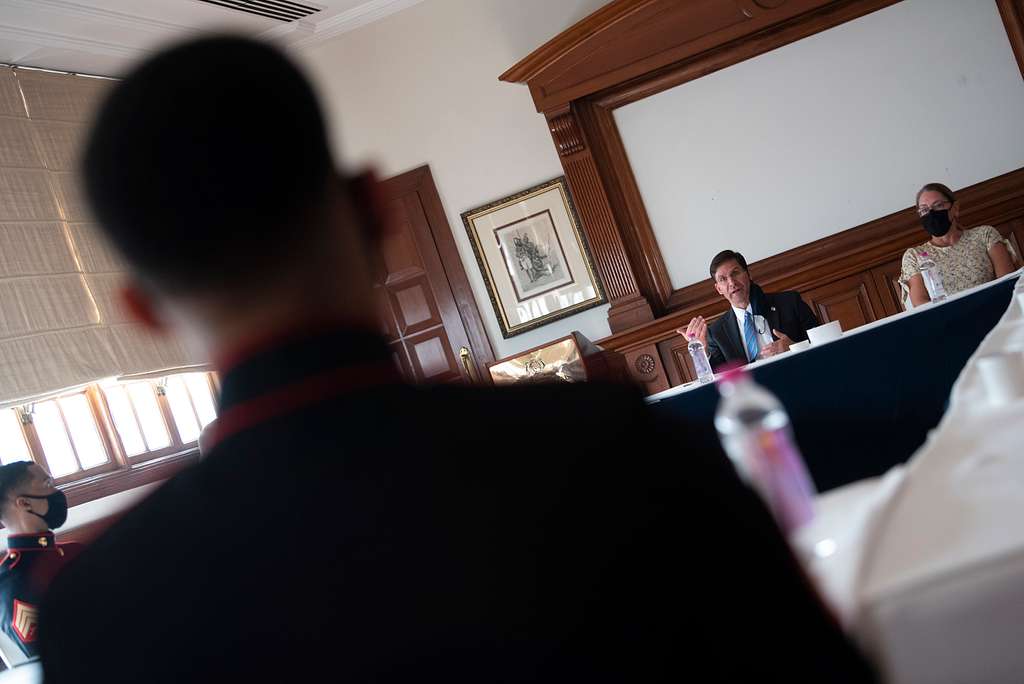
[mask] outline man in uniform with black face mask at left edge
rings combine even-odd
[[[46,471],[22,461],[0,466],[0,521],[9,530],[0,561],[0,629],[26,655],[36,655],[39,604],[53,576],[80,545],[57,544],[68,499]]]

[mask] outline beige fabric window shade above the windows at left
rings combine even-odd
[[[111,83],[0,68],[0,405],[204,360],[129,320],[125,266],[81,196],[78,149]]]

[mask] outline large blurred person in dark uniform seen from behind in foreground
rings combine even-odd
[[[103,104],[86,183],[126,302],[222,393],[206,458],[54,584],[49,684],[872,679],[729,462],[681,458],[711,426],[629,387],[403,384],[386,213],[328,151],[308,83],[246,40]]]

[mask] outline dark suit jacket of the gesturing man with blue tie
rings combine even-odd
[[[769,331],[781,331],[794,342],[806,340],[808,329],[818,325],[811,307],[800,298],[799,292],[768,295],[752,283],[751,308],[755,314],[765,317]],[[772,339],[778,339],[774,333]],[[748,362],[743,337],[731,307],[708,329],[708,358],[715,370],[734,361]]]

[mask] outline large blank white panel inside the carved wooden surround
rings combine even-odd
[[[993,0],[904,0],[615,113],[672,284],[1024,166]],[[924,231],[922,236],[924,237]]]

